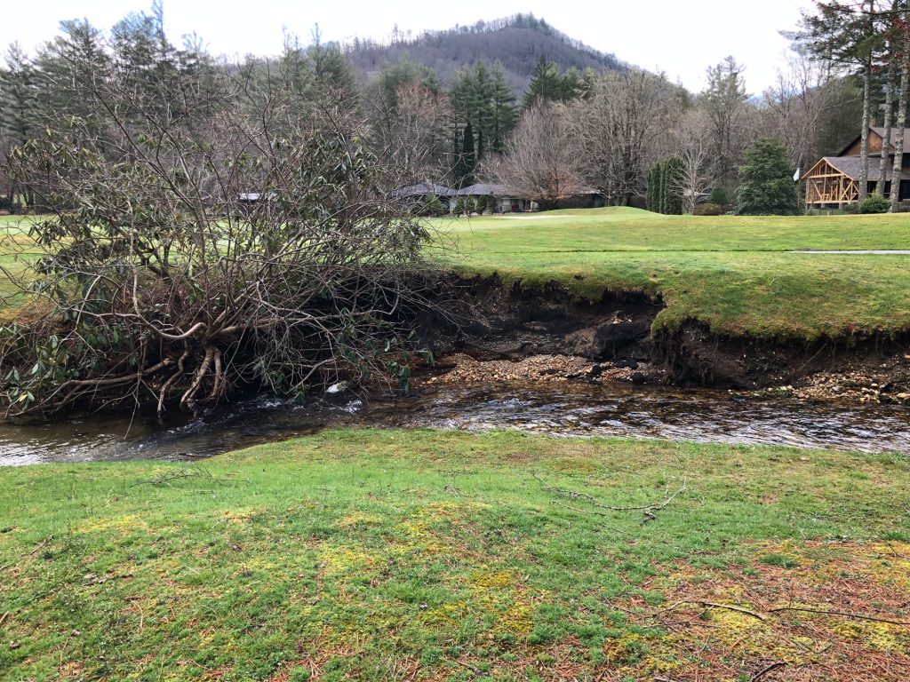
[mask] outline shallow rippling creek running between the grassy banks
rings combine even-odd
[[[0,424],[0,466],[194,459],[331,426],[511,428],[555,436],[831,447],[910,454],[910,408],[724,391],[574,382],[422,384],[410,396],[339,393],[296,405],[260,396],[191,419],[75,416]]]

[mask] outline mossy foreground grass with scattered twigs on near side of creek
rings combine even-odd
[[[908,510],[902,456],[514,433],[10,468],[0,678],[905,679]]]

